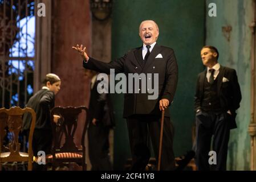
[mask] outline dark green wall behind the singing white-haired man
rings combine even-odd
[[[174,152],[185,154],[192,147],[194,123],[193,97],[197,74],[203,67],[200,50],[205,41],[204,0],[116,0],[112,13],[112,60],[129,49],[142,45],[139,25],[153,19],[159,25],[157,43],[174,49],[179,67],[176,96],[170,108],[175,127]],[[114,96],[116,129],[114,140],[114,168],[123,169],[130,157],[127,125],[123,114],[123,95]]]

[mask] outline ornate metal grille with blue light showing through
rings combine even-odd
[[[0,107],[24,107],[33,93],[34,0],[0,0]]]

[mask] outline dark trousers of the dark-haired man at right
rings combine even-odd
[[[196,164],[198,170],[226,170],[227,146],[230,133],[229,119],[230,115],[226,112],[199,111],[196,114]],[[217,164],[210,165],[209,151],[212,135],[212,150],[216,152]]]

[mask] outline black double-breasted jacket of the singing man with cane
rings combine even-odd
[[[166,98],[172,103],[176,92],[178,65],[173,49],[155,44],[147,62],[144,64],[142,48],[143,47],[132,49],[123,57],[111,61],[110,63],[103,63],[91,57],[88,63],[83,61],[84,68],[107,74],[109,74],[110,69],[115,69],[115,73],[124,73],[127,79],[128,73],[138,73],[139,75],[140,73],[159,74],[159,96],[156,100],[148,100],[148,96],[151,94],[135,93],[135,90],[133,90],[133,93],[124,94],[124,118],[133,114],[160,115],[159,101],[162,98]],[[162,58],[156,58],[159,53],[162,55]],[[165,116],[169,117],[168,109],[165,111]]]

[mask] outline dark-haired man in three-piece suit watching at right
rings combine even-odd
[[[209,151],[213,135],[216,152],[215,170],[226,170],[230,129],[237,127],[235,110],[241,102],[241,90],[234,69],[218,63],[218,50],[213,46],[201,49],[206,70],[198,75],[194,109],[196,111],[196,164],[198,170],[209,170]]]

